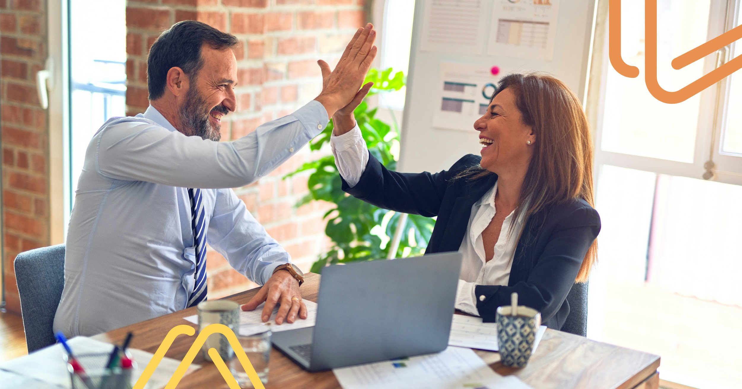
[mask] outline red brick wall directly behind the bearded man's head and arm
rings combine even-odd
[[[242,42],[235,53],[237,112],[222,124],[224,141],[244,136],[314,99],[321,89],[316,60],[335,64],[366,16],[364,0],[130,0],[126,9],[128,114],[143,112],[148,104],[148,48],[162,30],[186,19],[206,22]],[[314,158],[317,155],[305,147],[270,176],[235,189],[302,270],[309,270],[328,244],[322,220],[328,207],[313,203],[296,209],[295,203],[307,193],[307,175],[281,177]],[[213,250],[208,253],[207,270],[211,298],[254,286]]]

